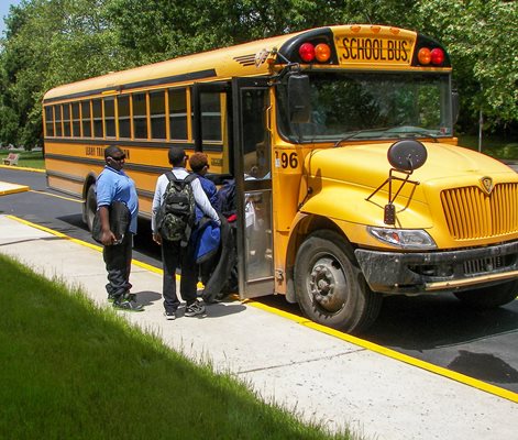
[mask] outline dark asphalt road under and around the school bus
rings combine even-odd
[[[0,197],[0,213],[10,213],[93,243],[81,220],[80,200],[46,188],[45,175],[0,168],[0,182],[27,185],[31,191]],[[134,257],[159,267],[159,249],[141,221]],[[282,296],[262,299],[293,314]],[[363,338],[432,364],[518,393],[518,300],[491,311],[464,307],[452,295],[389,297]]]

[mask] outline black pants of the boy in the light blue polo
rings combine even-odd
[[[108,272],[106,289],[113,299],[119,299],[130,292],[130,272],[133,248],[133,234],[126,232],[121,244],[104,246],[102,257]]]

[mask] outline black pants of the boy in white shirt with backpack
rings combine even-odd
[[[189,245],[181,248],[179,241],[163,240],[162,264],[164,268],[162,295],[164,296],[165,310],[175,311],[180,304],[176,295],[176,267],[178,266],[181,270],[181,298],[186,301],[187,306],[195,302],[198,270],[191,243],[189,242]]]

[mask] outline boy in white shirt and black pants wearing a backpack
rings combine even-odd
[[[173,146],[168,153],[169,163],[173,166],[173,174],[178,179],[185,179],[189,173],[185,168],[187,156],[184,148]],[[196,317],[205,314],[205,306],[197,300],[196,285],[198,283],[198,271],[195,261],[195,249],[192,241],[183,248],[179,241],[168,241],[161,237],[156,224],[156,215],[161,208],[166,194],[169,179],[165,174],[158,177],[156,182],[155,195],[153,197],[151,227],[153,230],[153,240],[162,245],[162,263],[164,268],[163,277],[163,297],[165,317],[168,320],[176,319],[176,312],[179,306],[178,296],[176,294],[176,267],[179,265],[181,270],[180,295],[186,301],[185,316]],[[220,224],[218,213],[214,211],[207,198],[201,183],[198,178],[190,183],[197,207],[201,212]]]

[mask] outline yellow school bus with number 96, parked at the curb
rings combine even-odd
[[[330,58],[322,63],[297,58],[305,38],[311,41],[313,46],[326,44]],[[427,44],[432,44],[431,51],[426,47]],[[423,58],[422,47],[428,51],[423,52]],[[436,65],[429,64],[427,56],[432,56],[432,63],[436,56]],[[357,84],[367,76],[383,84],[384,77],[400,81],[407,76],[418,75],[419,80],[411,86],[414,88],[426,82],[427,76],[436,75],[438,81],[444,78],[447,90],[451,66],[448,54],[440,45],[430,43],[416,32],[379,25],[341,25],[282,35],[59,86],[49,90],[43,99],[48,186],[82,197],[88,205],[89,188],[103,167],[103,150],[111,144],[121,146],[126,154],[126,172],[136,183],[141,215],[144,217],[151,216],[157,177],[168,169],[169,146],[180,145],[187,152],[203,150],[209,155],[210,170],[216,176],[235,177],[231,152],[235,130],[232,131],[229,125],[229,114],[236,103],[229,101],[232,99],[229,91],[220,91],[212,100],[205,102],[201,110],[196,110],[196,88],[221,86],[229,89],[236,84],[235,78],[260,78],[266,81],[264,87],[268,88],[264,129],[269,144],[256,146],[257,153],[253,152],[250,156],[252,161],[243,158],[242,168],[249,173],[256,169],[257,157],[264,154],[268,157],[272,228],[268,228],[267,234],[271,235],[273,249],[268,253],[272,258],[272,289],[266,293],[285,294],[291,301],[306,300],[307,304],[301,304],[301,307],[311,319],[359,331],[374,320],[375,309],[379,307],[377,300],[372,300],[373,305],[368,306],[371,299],[364,301],[354,297],[359,305],[351,306],[349,294],[340,294],[339,306],[328,307],[334,304],[332,289],[337,288],[335,284],[348,285],[354,271],[359,271],[368,284],[366,287],[365,280],[362,280],[355,288],[368,298],[372,297],[371,290],[383,294],[462,290],[470,285],[470,279],[471,284],[481,288],[504,282],[506,286],[516,283],[517,250],[513,246],[518,241],[518,174],[496,160],[456,146],[451,121],[441,120],[434,134],[430,131],[428,134],[425,131],[422,134],[409,132],[409,135],[401,132],[397,136],[375,139],[374,135],[362,138],[362,133],[368,130],[357,130],[359,138],[332,138],[328,133],[327,138],[317,135],[311,141],[300,131],[300,141],[297,141],[298,129],[296,123],[286,122],[288,117],[285,110],[289,107],[280,102],[283,95],[278,91],[284,78],[295,70],[311,78],[350,75]],[[331,80],[329,89],[322,90],[332,90]],[[343,86],[340,91],[349,94],[350,88]],[[433,97],[434,92],[431,89],[427,91]],[[354,98],[353,95],[351,97]],[[414,105],[422,106],[427,97],[421,96],[420,101]],[[449,95],[438,91],[436,100],[449,109]],[[348,108],[348,101],[344,98],[340,105]],[[368,103],[374,106],[377,101],[373,99]],[[356,99],[355,105],[360,112],[362,100]],[[397,109],[382,110],[376,117],[390,118]],[[198,113],[195,114],[196,111]],[[206,139],[197,139],[197,118],[203,130],[209,128],[203,131],[203,135],[209,133]],[[444,116],[441,118],[444,119]],[[366,121],[359,123],[365,127]],[[289,128],[293,129],[290,134],[287,133],[291,130]],[[376,127],[375,130],[381,129]],[[411,128],[401,130],[411,131]],[[155,136],[155,132],[159,135]],[[395,170],[398,178],[387,180],[392,168],[387,160],[390,145],[406,138],[416,139],[423,145],[426,164],[410,172],[410,178]],[[261,148],[265,150],[260,152]],[[403,185],[405,178],[408,182]],[[395,194],[397,196],[390,201]],[[384,217],[387,205],[394,207],[393,223],[387,223]],[[86,206],[86,220],[88,209]],[[425,250],[411,245],[398,248],[389,241],[379,240],[376,234],[386,233],[383,229],[404,230],[401,237],[407,233],[409,240],[415,238],[411,232],[405,231],[425,231],[421,235],[428,234],[434,245]],[[328,232],[319,235],[320,230]],[[312,240],[311,245],[305,245],[309,239]],[[338,241],[343,243],[328,256],[322,251],[320,263],[318,255],[306,257],[304,254],[310,253],[308,248],[310,250],[312,244],[321,244],[324,249],[322,243]],[[506,251],[502,251],[506,256],[499,258],[498,246],[502,244],[506,245]],[[467,275],[460,277],[461,280],[454,274],[458,266],[447,263],[450,256],[455,260],[456,251],[487,252],[489,246],[493,246],[491,255],[475,252],[471,258],[459,254],[459,257],[465,258],[465,266],[474,266]],[[453,254],[448,254],[451,252]],[[337,253],[340,256],[335,256]],[[385,257],[394,264],[387,264],[387,267],[396,267],[392,257],[396,261],[398,255],[405,255],[405,258],[419,255],[421,261],[416,263],[416,267],[419,266],[416,279],[420,280],[412,284],[414,275],[401,275],[400,279],[406,277],[408,285],[400,285],[399,278],[395,278],[392,285],[382,286],[383,279],[378,279],[373,272],[379,271]],[[422,263],[427,260],[426,255],[430,255],[430,267]],[[437,265],[433,255],[437,256]],[[297,276],[306,267],[298,260],[305,258],[306,266],[313,265],[307,274],[309,280],[306,287],[304,276]],[[339,263],[329,263],[333,258]],[[334,266],[342,264],[344,258],[350,260],[351,267],[335,271]],[[371,270],[370,262],[375,268]],[[320,271],[323,275],[318,275]],[[499,274],[498,279],[495,279],[494,272]],[[241,288],[245,290],[243,284]],[[298,292],[305,288],[309,293]],[[344,292],[348,289],[341,288]],[[313,294],[317,299],[311,297]],[[247,296],[245,292],[242,295]],[[484,292],[484,295],[491,293]],[[507,297],[511,299],[511,296]],[[354,311],[344,317],[342,310],[349,307]],[[372,311],[365,311],[368,308]],[[360,318],[356,319],[355,314]]]

